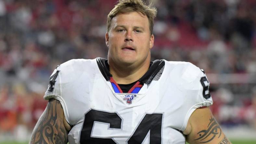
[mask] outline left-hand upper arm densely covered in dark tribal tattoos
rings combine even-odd
[[[32,132],[30,144],[66,144],[70,129],[60,102],[50,99]]]

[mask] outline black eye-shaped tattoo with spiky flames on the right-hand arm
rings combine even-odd
[[[221,136],[221,128],[219,124],[216,122],[214,118],[210,119],[210,123],[208,124],[208,129],[207,130],[201,130],[197,134],[199,137],[194,140],[200,140],[200,143],[207,143],[211,141],[213,138],[218,136],[218,138]]]

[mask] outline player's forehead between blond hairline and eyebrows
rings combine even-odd
[[[127,12],[118,14],[111,20],[111,27],[115,27],[117,25],[140,26],[149,28],[147,16],[140,12]]]

